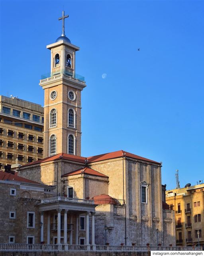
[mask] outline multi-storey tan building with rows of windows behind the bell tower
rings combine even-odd
[[[0,96],[0,169],[43,158],[43,124],[41,105]]]

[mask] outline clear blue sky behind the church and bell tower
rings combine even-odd
[[[162,161],[175,188],[204,180],[204,1],[1,1],[0,94],[43,105],[47,44],[80,46],[82,155]],[[140,48],[140,51],[137,51]],[[107,74],[105,79],[102,74]]]

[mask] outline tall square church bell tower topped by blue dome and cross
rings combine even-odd
[[[45,90],[44,158],[59,153],[81,154],[81,91],[84,77],[75,73],[75,53],[78,46],[65,36],[63,11],[62,34],[47,45],[51,50],[51,72],[42,76],[39,85]]]

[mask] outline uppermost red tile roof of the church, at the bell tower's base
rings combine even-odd
[[[84,163],[84,164],[85,164],[86,160],[88,160],[88,163],[94,163],[94,162],[108,160],[108,159],[120,158],[120,157],[122,157],[124,155],[126,157],[129,157],[129,158],[134,158],[134,159],[138,159],[138,160],[144,160],[144,161],[160,164],[159,162],[150,160],[148,158],[137,156],[135,154],[126,152],[124,150],[119,150],[119,151],[115,151],[115,152],[101,154],[101,155],[98,155],[98,156],[90,156],[90,157],[87,157],[87,158],[86,157],[82,157],[82,156],[70,155],[70,154],[66,154],[66,153],[60,153],[60,154],[57,154],[55,156],[49,156],[47,158],[40,159],[40,160],[37,160],[37,161],[29,163],[29,164],[25,164],[22,167],[24,167],[24,166],[31,166],[31,165],[35,165],[35,164],[46,163],[46,162],[60,160],[60,159],[69,160],[69,161],[78,162],[78,163]]]

